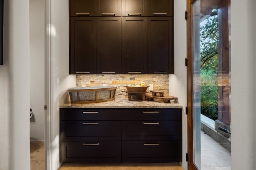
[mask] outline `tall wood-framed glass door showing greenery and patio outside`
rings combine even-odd
[[[230,0],[188,5],[188,169],[231,169]]]

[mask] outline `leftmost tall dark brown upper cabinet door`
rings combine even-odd
[[[96,74],[96,18],[70,18],[70,74]]]

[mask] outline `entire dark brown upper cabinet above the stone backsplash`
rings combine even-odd
[[[174,74],[173,0],[69,3],[70,74]]]

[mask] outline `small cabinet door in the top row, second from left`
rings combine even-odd
[[[121,16],[121,0],[96,0],[97,16]]]

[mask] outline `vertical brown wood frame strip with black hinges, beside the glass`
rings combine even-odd
[[[187,0],[187,107],[188,107],[188,170],[197,170],[194,164],[193,147],[193,72],[192,72],[192,10],[196,0]]]

